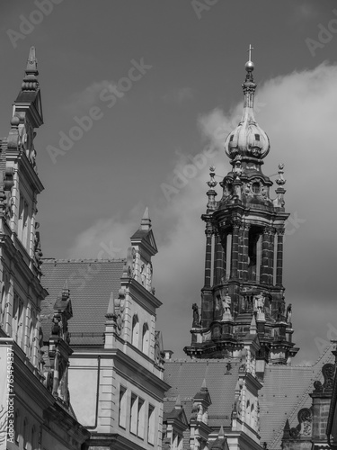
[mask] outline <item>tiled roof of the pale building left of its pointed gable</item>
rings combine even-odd
[[[41,303],[44,339],[49,339],[54,304],[67,280],[73,308],[70,345],[102,345],[111,292],[118,296],[125,259],[44,259],[42,284],[49,296]]]

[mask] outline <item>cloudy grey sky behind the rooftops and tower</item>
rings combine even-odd
[[[315,360],[337,338],[335,2],[3,0],[0,13],[1,136],[31,45],[39,60],[44,256],[125,257],[147,205],[158,327],[177,357],[200,302],[208,166],[229,170],[223,142],[253,45],[256,118],[271,142],[263,170],[275,179],[283,162],[287,179],[295,362]]]

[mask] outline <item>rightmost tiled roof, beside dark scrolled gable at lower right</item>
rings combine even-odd
[[[333,346],[329,346],[315,365],[270,365],[265,371],[260,391],[261,442],[270,450],[281,447],[283,428],[288,419],[290,428],[297,426],[297,413],[310,408],[309,393],[315,380],[322,380],[322,367],[334,362]]]

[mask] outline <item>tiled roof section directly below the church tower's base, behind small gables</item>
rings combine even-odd
[[[212,401],[208,409],[209,427],[230,426],[240,364],[232,363],[229,374],[227,374],[226,365],[226,360],[215,359],[165,362],[164,380],[172,387],[166,392],[164,411],[173,410],[179,394],[186,417],[190,420],[193,397],[200,392],[205,379]]]

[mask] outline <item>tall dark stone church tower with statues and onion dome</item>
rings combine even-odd
[[[267,134],[253,112],[256,84],[254,64],[245,64],[244,112],[225,142],[232,170],[220,186],[216,201],[215,167],[210,167],[206,223],[205,280],[201,313],[193,305],[193,358],[242,356],[244,337],[253,317],[261,344],[257,371],[266,362],[288,364],[297,354],[292,342],[291,304],[286,308],[282,284],[283,236],[288,213],[284,205],[285,179],[279,164],[276,198],[270,198],[270,178],[263,174],[263,158],[270,151]],[[260,369],[259,369],[260,367]]]

